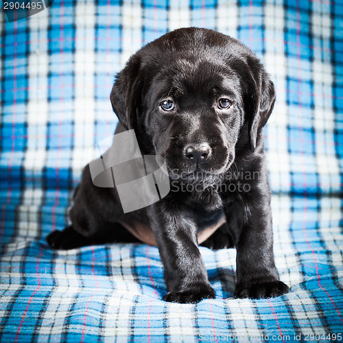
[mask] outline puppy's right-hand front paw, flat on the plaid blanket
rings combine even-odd
[[[237,298],[272,298],[288,293],[289,288],[281,281],[244,283],[236,286]]]

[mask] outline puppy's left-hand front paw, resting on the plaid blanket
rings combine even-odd
[[[169,303],[199,303],[202,299],[215,298],[215,291],[210,285],[199,287],[189,287],[186,291],[181,292],[168,292],[163,296],[163,300]]]

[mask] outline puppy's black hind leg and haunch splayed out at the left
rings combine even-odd
[[[96,187],[89,165],[86,165],[73,195],[73,206],[69,212],[71,226],[50,233],[47,242],[54,249],[72,249],[139,241],[117,222],[119,213],[122,209],[116,189]]]

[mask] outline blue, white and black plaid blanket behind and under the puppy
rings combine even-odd
[[[342,340],[342,1],[55,0],[0,18],[1,342]],[[276,86],[264,134],[285,296],[233,298],[233,249],[200,248],[216,298],[180,305],[162,300],[157,248],[45,243],[69,220],[93,144],[115,130],[113,76],[187,26],[239,38]]]

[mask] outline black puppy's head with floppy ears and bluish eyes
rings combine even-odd
[[[110,100],[145,154],[171,175],[221,175],[239,150],[262,145],[275,101],[262,65],[237,40],[209,29],[169,32],[134,54]]]

